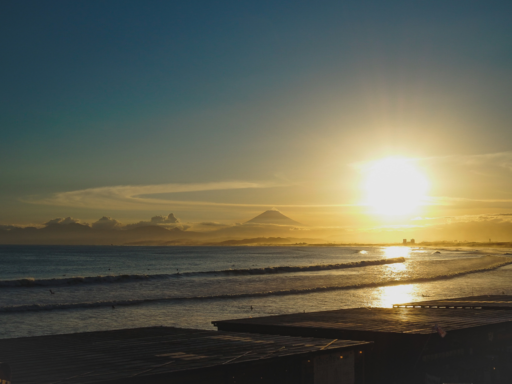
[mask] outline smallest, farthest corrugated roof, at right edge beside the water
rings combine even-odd
[[[482,295],[394,304],[394,308],[468,308],[512,310],[510,295]]]

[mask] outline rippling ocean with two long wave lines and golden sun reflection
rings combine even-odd
[[[0,245],[0,338],[512,294],[512,251]]]

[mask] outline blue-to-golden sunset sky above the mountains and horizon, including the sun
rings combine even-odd
[[[0,41],[1,225],[512,240],[512,3],[17,0]]]

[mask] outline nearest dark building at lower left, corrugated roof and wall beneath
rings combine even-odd
[[[148,327],[0,339],[14,384],[363,384],[369,342]]]

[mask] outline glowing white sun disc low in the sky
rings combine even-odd
[[[366,204],[375,213],[407,215],[422,204],[429,183],[412,159],[381,159],[366,170]]]

